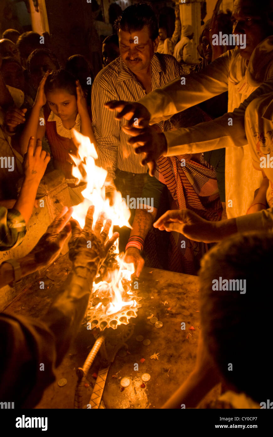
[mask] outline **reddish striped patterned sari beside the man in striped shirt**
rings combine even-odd
[[[190,209],[200,217],[218,221],[222,215],[215,170],[189,160],[181,166],[182,156],[161,156],[155,177],[167,185],[172,209]],[[198,243],[177,232],[170,232],[169,270],[197,274],[203,255],[212,243]],[[183,243],[184,242],[184,243]]]

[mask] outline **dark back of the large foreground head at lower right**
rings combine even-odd
[[[256,402],[250,408],[266,408],[266,400],[272,397],[267,354],[272,329],[272,294],[268,292],[272,248],[272,232],[236,234],[215,246],[201,263],[204,343],[226,387],[234,393],[225,398],[235,403],[233,408],[249,408],[246,404],[236,407],[235,392]],[[256,321],[262,321],[262,336]]]

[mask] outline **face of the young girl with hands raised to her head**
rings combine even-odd
[[[76,118],[77,100],[72,94],[68,94],[66,90],[55,90],[55,92],[47,93],[46,98],[51,111],[62,121]]]

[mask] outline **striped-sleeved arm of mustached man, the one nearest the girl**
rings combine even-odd
[[[115,97],[95,79],[92,85],[92,127],[97,142],[96,165],[105,168],[108,173],[106,183],[110,186],[106,187],[106,191],[111,191],[111,187],[114,189],[121,122],[115,119],[115,113],[108,111],[104,104]]]

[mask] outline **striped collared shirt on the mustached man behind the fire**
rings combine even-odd
[[[154,53],[151,68],[153,90],[183,74],[183,69],[171,55]],[[115,179],[116,168],[130,173],[146,173],[148,167],[141,165],[141,156],[136,155],[134,146],[127,143],[129,136],[121,129],[126,120],[115,120],[116,112],[109,111],[103,104],[110,100],[133,102],[145,95],[145,89],[121,57],[103,68],[94,80],[92,126],[99,156],[96,165],[108,171],[106,181],[109,183]]]

